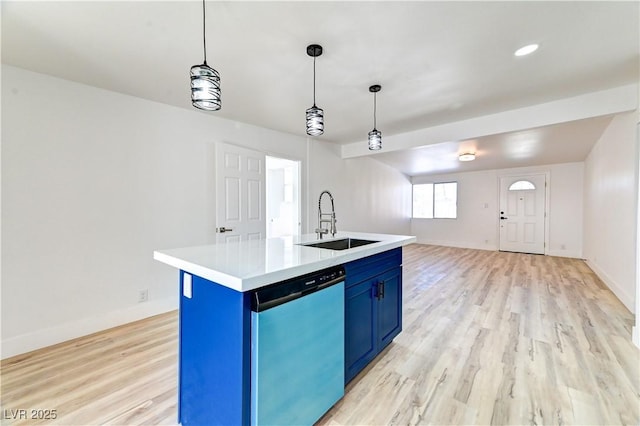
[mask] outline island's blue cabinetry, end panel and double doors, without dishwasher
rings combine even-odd
[[[353,379],[402,329],[401,264],[402,249],[397,248],[344,265],[344,383]],[[179,423],[240,426],[254,422],[251,342],[255,330],[250,293],[237,292],[184,271],[180,273],[180,284]],[[333,311],[335,314],[335,308]],[[334,327],[335,330],[342,328]],[[337,352],[338,358],[341,351],[342,348]],[[326,361],[328,357],[322,359]],[[290,365],[280,367],[286,369]],[[300,375],[292,375],[297,376]],[[338,381],[342,381],[341,375]]]

